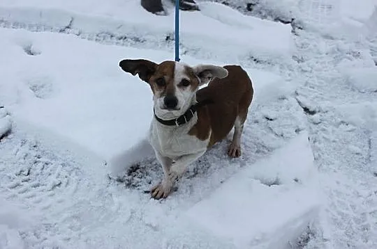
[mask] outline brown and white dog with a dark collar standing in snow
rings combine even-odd
[[[125,72],[138,74],[151,87],[154,119],[149,143],[163,167],[161,183],[151,189],[166,198],[186,167],[235,127],[228,155],[241,155],[241,135],[253,99],[248,74],[237,65],[219,67],[164,61],[123,60]],[[207,87],[200,86],[209,83]]]

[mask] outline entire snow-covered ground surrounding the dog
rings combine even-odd
[[[182,61],[241,64],[256,97],[242,159],[216,145],[157,202],[151,94],[117,63],[171,59],[173,16],[1,1],[0,248],[375,248],[376,3],[261,2],[304,30],[182,13]]]

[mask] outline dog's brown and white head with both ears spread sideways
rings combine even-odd
[[[158,118],[177,118],[195,104],[195,93],[212,78],[225,78],[228,70],[215,65],[190,67],[175,61],[156,64],[147,60],[123,60],[119,66],[125,72],[149,83],[153,92],[154,110]]]

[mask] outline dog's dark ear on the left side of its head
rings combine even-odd
[[[156,72],[157,64],[147,60],[122,60],[119,67],[133,76],[139,74],[139,78],[149,83],[149,79]]]

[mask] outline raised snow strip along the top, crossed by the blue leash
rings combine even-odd
[[[267,61],[290,58],[293,42],[289,25],[246,17],[216,3],[202,4],[203,13],[181,13],[182,51],[221,60],[237,60],[247,56]],[[247,25],[229,23],[230,17],[217,14],[230,12],[232,20],[244,20]],[[7,0],[0,3],[0,25],[32,31],[75,33],[90,40],[112,40],[113,43],[126,45],[142,43],[143,47],[156,48],[170,46],[174,13],[168,16],[153,15],[136,0]]]

